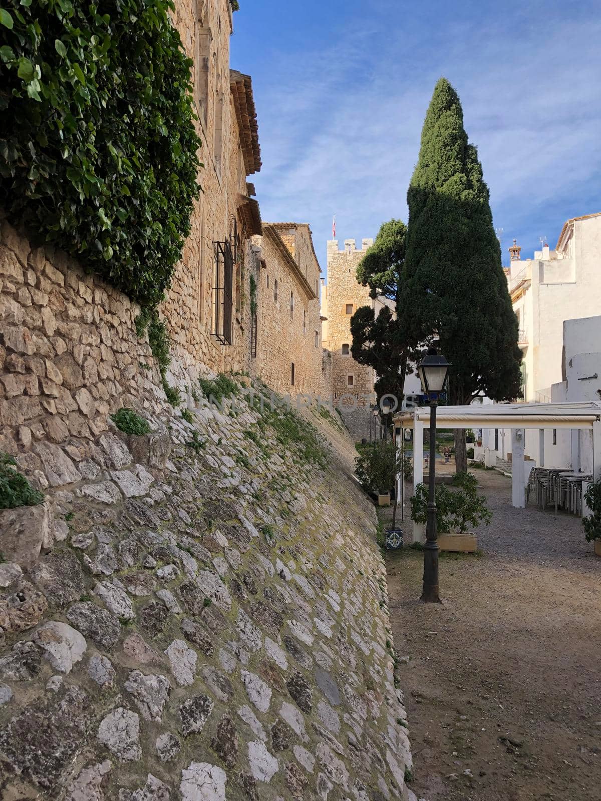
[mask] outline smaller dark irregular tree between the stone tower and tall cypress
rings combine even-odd
[[[391,219],[381,225],[375,242],[357,266],[357,281],[369,286],[372,298],[393,300],[376,316],[370,306],[361,306],[351,318],[353,344],[351,354],[360,364],[367,364],[377,374],[377,400],[384,395],[403,397],[407,346],[397,312],[401,272],[405,260],[405,223]]]

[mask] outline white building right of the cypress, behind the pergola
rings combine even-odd
[[[520,251],[514,242],[506,273],[519,323],[523,400],[528,403],[560,400],[559,389],[551,388],[567,380],[571,368],[565,365],[580,353],[601,350],[599,328],[596,340],[590,339],[587,344],[578,341],[578,336],[586,338],[591,334],[591,326],[595,327],[591,322],[583,328],[576,324],[568,326],[564,352],[564,323],[567,320],[577,323],[579,318],[594,318],[601,313],[601,213],[568,219],[555,250],[545,245],[542,251],[534,253],[534,259],[526,260],[520,258]],[[581,334],[577,334],[581,328]],[[571,354],[567,359],[566,353]],[[581,383],[575,377],[571,395],[563,400],[588,400],[588,395],[582,394]],[[591,400],[599,400],[599,396]],[[554,445],[552,438],[547,442],[548,437],[550,433],[545,437],[542,432],[528,431],[526,458],[530,457],[537,465],[546,461],[547,465],[560,466],[555,462],[559,452],[554,450],[559,446]],[[510,458],[509,431],[486,432],[482,439],[482,444],[496,450],[498,457]],[[555,457],[553,461],[551,454]]]

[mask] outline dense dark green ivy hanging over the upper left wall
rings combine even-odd
[[[2,0],[0,205],[156,304],[190,232],[200,139],[171,0]]]

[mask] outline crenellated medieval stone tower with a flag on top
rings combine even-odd
[[[373,239],[363,239],[357,250],[354,239],[345,239],[345,249],[340,251],[338,240],[330,240],[328,283],[321,290],[321,314],[326,318],[323,346],[332,354],[333,402],[356,440],[369,439],[375,376],[372,368],[359,364],[350,354],[350,320],[360,306],[376,303],[369,297],[369,288],[357,283],[357,264],[372,244]]]

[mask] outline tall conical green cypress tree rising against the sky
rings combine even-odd
[[[458,94],[440,78],[407,192],[401,320],[414,348],[438,336],[453,365],[450,402],[479,392],[513,400],[520,391],[518,321],[511,308],[489,191],[468,143]],[[458,469],[466,469],[465,432],[455,433]]]

